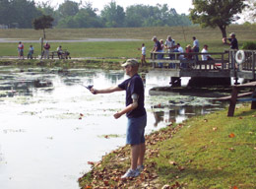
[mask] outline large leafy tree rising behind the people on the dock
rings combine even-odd
[[[246,7],[245,0],[193,0],[194,8],[190,9],[190,19],[202,28],[219,27],[226,37],[226,27],[237,21],[236,15]]]

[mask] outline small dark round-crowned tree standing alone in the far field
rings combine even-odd
[[[32,26],[34,30],[42,30],[43,31],[43,38],[46,38],[45,36],[45,29],[51,29],[52,28],[52,22],[54,19],[49,15],[42,15],[41,17],[38,17],[37,19],[34,19],[32,21]]]

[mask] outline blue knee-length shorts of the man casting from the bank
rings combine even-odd
[[[126,144],[139,145],[145,143],[145,127],[147,125],[147,114],[141,117],[128,118],[126,131]]]

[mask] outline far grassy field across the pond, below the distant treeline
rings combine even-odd
[[[256,40],[256,26],[230,26],[227,33],[235,32],[239,41],[239,46],[245,41]],[[34,30],[0,30],[0,38],[13,38],[18,40],[35,39],[41,36],[40,31]],[[192,44],[192,36],[197,36],[201,43],[209,45],[211,52],[223,52],[228,45],[222,43],[222,33],[219,29],[201,29],[199,27],[161,27],[161,28],[131,28],[131,29],[67,29],[67,30],[47,30],[47,40],[51,39],[86,39],[86,38],[132,38],[141,39],[139,41],[112,41],[112,42],[53,42],[51,50],[55,50],[58,45],[71,52],[75,57],[134,57],[138,58],[141,52],[142,42],[146,44],[148,57],[153,48],[153,35],[165,40],[167,35],[171,35],[176,42],[179,42],[184,48],[187,44]],[[29,45],[25,44],[25,54],[27,55]],[[0,43],[0,56],[17,56],[16,43]],[[35,48],[35,54],[40,53],[39,41],[32,43]]]

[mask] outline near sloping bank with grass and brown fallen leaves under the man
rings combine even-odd
[[[253,189],[256,188],[256,112],[240,105],[193,117],[147,136],[146,168],[141,176],[120,180],[129,166],[129,148],[89,162],[82,188]],[[107,139],[106,139],[107,140]],[[167,187],[166,187],[167,188]]]

